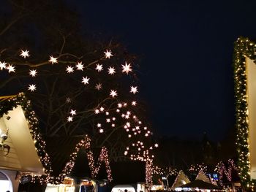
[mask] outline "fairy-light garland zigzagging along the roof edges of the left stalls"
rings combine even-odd
[[[23,93],[19,93],[17,96],[12,96],[10,99],[7,99],[3,103],[1,103],[0,114],[4,115],[9,110],[12,110],[13,107],[17,107],[20,105],[24,111],[25,117],[28,120],[29,128],[31,131],[32,139],[34,139],[34,145],[37,150],[37,154],[39,156],[39,161],[42,163],[44,167],[44,172],[46,175],[32,175],[31,182],[32,183],[53,183],[60,184],[64,180],[64,178],[72,171],[73,166],[75,166],[75,159],[77,158],[78,152],[81,147],[89,150],[91,146],[91,139],[88,136],[84,137],[76,146],[74,152],[70,155],[69,161],[64,166],[64,169],[61,171],[58,177],[51,177],[50,173],[53,171],[50,165],[50,158],[48,153],[45,150],[45,141],[42,139],[38,128],[38,120],[35,116],[35,112],[31,109],[31,101],[26,99],[26,96]],[[102,162],[105,162],[106,171],[108,174],[108,180],[112,180],[111,169],[108,160],[108,150],[105,147],[102,147],[102,151],[99,154],[97,166],[94,165],[94,156],[91,150],[88,151],[87,157],[89,159],[89,167],[91,169],[91,173],[93,177],[96,177],[100,166],[102,166]]]

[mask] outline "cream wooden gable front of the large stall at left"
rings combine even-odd
[[[13,108],[8,111],[8,115],[0,118],[1,132],[5,133],[7,128],[9,134],[5,144],[11,148],[8,155],[0,155],[0,169],[44,174],[29,130],[29,123],[21,106]]]

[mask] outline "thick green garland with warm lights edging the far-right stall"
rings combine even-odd
[[[236,149],[238,152],[238,172],[241,183],[247,188],[255,188],[255,180],[250,177],[248,143],[248,103],[246,94],[245,57],[255,62],[256,45],[248,38],[239,37],[234,47],[234,76],[236,98]]]

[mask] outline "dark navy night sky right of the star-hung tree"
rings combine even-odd
[[[83,30],[118,37],[140,62],[155,132],[222,139],[233,128],[233,42],[256,37],[256,1],[67,0]]]

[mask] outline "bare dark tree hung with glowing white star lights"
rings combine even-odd
[[[45,137],[88,134],[114,161],[148,158],[154,145],[140,118],[135,55],[81,34],[78,15],[63,1],[8,1],[2,8],[2,93],[26,94]]]

